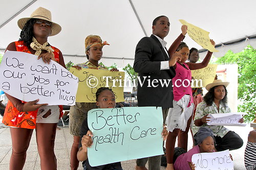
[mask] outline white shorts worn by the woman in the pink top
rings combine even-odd
[[[167,130],[173,132],[174,129],[186,130],[187,121],[193,114],[194,104],[191,103],[189,107],[190,95],[184,95],[178,102],[173,101],[173,108],[169,108],[165,124]],[[190,126],[190,125],[189,125]]]

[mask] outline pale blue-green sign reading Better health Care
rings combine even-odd
[[[161,107],[92,109],[88,127],[93,133],[91,166],[163,154]]]

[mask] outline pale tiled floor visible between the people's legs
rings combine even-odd
[[[228,127],[230,130],[237,132],[243,139],[244,145],[241,149],[236,151],[230,151],[234,158],[234,169],[244,170],[244,151],[247,142],[247,136],[252,128],[246,127]],[[66,170],[70,169],[70,150],[73,142],[73,136],[69,133],[68,127],[60,127],[60,130],[56,132],[55,140],[55,154],[57,157],[58,169]],[[191,135],[189,134],[188,149],[192,146]],[[11,156],[11,136],[9,128],[3,128],[0,125],[0,170],[9,169],[9,159]],[[123,161],[122,167],[124,170],[135,169],[135,160]],[[40,169],[40,158],[38,156],[35,132],[33,133],[30,146],[27,152],[27,159],[24,169],[36,170]],[[82,169],[80,164],[79,170]],[[161,167],[161,170],[165,169]]]

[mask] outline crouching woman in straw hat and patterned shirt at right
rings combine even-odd
[[[208,114],[216,113],[230,113],[231,110],[227,106],[227,89],[229,82],[222,82],[221,80],[214,80],[213,83],[206,85],[208,92],[204,96],[204,101],[199,103],[195,115],[195,125],[193,126],[193,134],[196,137],[200,127],[208,127],[215,134],[216,151],[224,150],[236,150],[242,147],[243,139],[228,130],[224,126],[208,126],[206,123],[209,121]],[[239,120],[240,123],[244,122],[244,119]],[[194,137],[194,139],[195,139]],[[195,144],[197,141],[195,140]]]

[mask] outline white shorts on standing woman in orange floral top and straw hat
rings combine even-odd
[[[46,118],[42,117],[44,116],[49,110],[51,110],[51,114],[47,116]],[[36,123],[41,124],[52,124],[52,123],[58,123],[59,122],[59,106],[42,106],[38,109],[37,117],[36,117]]]

